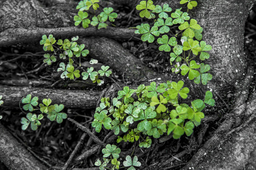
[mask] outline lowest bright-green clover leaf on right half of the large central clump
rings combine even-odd
[[[179,139],[180,136],[184,134],[183,127],[180,126],[180,124],[183,122],[183,119],[171,119],[168,122],[168,131],[167,134],[170,135],[171,132],[173,132],[173,138]]]

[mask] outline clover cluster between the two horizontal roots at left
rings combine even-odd
[[[82,20],[80,22],[82,22]],[[76,36],[73,37],[71,41],[69,41],[68,39],[65,39],[64,41],[62,39],[59,39],[58,41],[56,41],[53,35],[49,35],[48,38],[47,35],[43,35],[40,44],[44,45],[44,51],[54,52],[53,55],[49,53],[44,54],[45,59],[43,60],[43,62],[51,65],[53,62],[57,62],[56,55],[59,54],[59,59],[64,61],[68,60],[67,63],[60,62],[59,68],[57,68],[57,72],[61,72],[60,77],[62,79],[69,78],[71,80],[75,80],[75,78],[77,79],[82,77],[83,80],[86,80],[88,77],[90,77],[93,83],[97,83],[97,85],[104,84],[104,80],[102,80],[102,77],[109,77],[112,74],[112,71],[108,70],[109,66],[102,66],[101,69],[98,71],[93,71],[93,67],[87,68],[87,71],[81,68],[81,58],[86,57],[89,54],[89,51],[85,49],[85,44],[77,44],[76,41],[78,39],[79,37]],[[51,41],[51,44],[47,43]],[[58,46],[54,44],[55,42],[57,42]],[[90,60],[90,64],[95,63],[97,63],[97,60]]]

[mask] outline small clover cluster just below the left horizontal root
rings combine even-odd
[[[43,103],[40,103],[38,107],[38,97],[33,97],[32,99],[31,97],[31,94],[28,94],[21,100],[22,104],[24,104],[23,110],[29,111],[26,118],[23,117],[20,120],[22,130],[26,130],[29,124],[32,130],[37,130],[38,126],[41,125],[40,120],[44,118],[43,114],[47,114],[48,119],[51,121],[56,120],[57,123],[61,123],[63,119],[67,118],[66,113],[62,112],[64,109],[63,104],[51,105],[51,99],[43,99]]]

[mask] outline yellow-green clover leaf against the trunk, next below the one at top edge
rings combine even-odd
[[[186,21],[186,22],[184,22],[183,24],[181,24],[179,26],[180,30],[185,30],[184,33],[183,33],[185,36],[193,38],[195,36],[195,33],[191,28],[196,29],[196,30],[200,30],[201,26],[199,26],[197,24],[197,20],[195,20],[195,19],[190,20],[190,25],[189,25],[188,21]]]

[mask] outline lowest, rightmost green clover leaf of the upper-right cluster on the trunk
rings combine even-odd
[[[208,81],[212,79],[212,75],[209,73],[205,73],[210,70],[210,66],[208,64],[204,65],[204,63],[200,64],[200,75],[194,79],[196,84],[199,84],[202,81],[203,85],[207,85]]]

